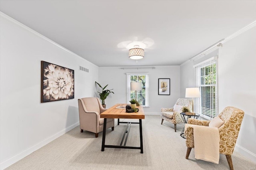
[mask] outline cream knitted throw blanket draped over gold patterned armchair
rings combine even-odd
[[[193,126],[195,158],[218,164],[220,134],[217,127]]]

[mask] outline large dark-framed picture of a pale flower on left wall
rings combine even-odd
[[[41,103],[74,99],[74,70],[41,61]]]

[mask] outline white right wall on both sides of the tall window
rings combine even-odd
[[[256,27],[227,41],[218,50],[218,110],[234,106],[245,112],[235,150],[256,162]],[[209,54],[210,55],[210,54]],[[207,55],[203,59],[209,58]],[[214,56],[214,55],[212,55]],[[200,59],[202,60],[202,59]],[[181,87],[194,86],[196,63],[181,65]],[[181,97],[185,92],[181,92]]]

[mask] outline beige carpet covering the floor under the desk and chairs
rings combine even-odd
[[[94,133],[80,133],[78,126],[6,170],[229,170],[223,154],[219,164],[214,164],[196,160],[192,149],[186,160],[186,139],[180,137],[183,127],[177,125],[175,133],[173,124],[164,121],[161,125],[160,115],[146,115],[142,120],[144,154],[141,154],[137,149],[105,148],[102,152],[102,132],[95,138]],[[106,145],[120,145],[125,128],[125,124],[117,126],[116,119],[115,130],[107,130]],[[139,139],[139,125],[132,124],[126,146],[139,147]],[[235,170],[256,169],[254,162],[236,151],[232,160]]]

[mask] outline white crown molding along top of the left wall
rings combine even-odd
[[[72,51],[69,51],[68,49],[62,47],[61,45],[59,45],[59,44],[57,44],[57,43],[55,43],[54,41],[48,39],[48,38],[45,37],[44,35],[42,35],[42,34],[36,32],[36,31],[34,31],[33,29],[31,29],[30,27],[24,25],[23,23],[20,23],[19,21],[14,20],[13,18],[11,18],[10,16],[4,14],[3,12],[0,12],[0,18],[1,18],[2,20],[8,21],[9,23],[12,23],[13,25],[16,25],[16,26],[22,28],[23,30],[25,30],[25,31],[27,31],[27,32],[29,32],[29,33],[32,33],[32,34],[34,34],[34,35],[36,35],[36,36],[38,36],[38,37],[44,39],[45,41],[48,41],[49,43],[55,45],[56,47],[59,47],[60,49],[66,51],[67,53],[70,53],[70,54],[72,54],[72,55],[78,57],[79,59],[86,60],[86,59],[80,57],[79,55],[73,53]],[[89,63],[91,63],[91,62],[88,61],[88,60],[86,60],[86,61],[89,62]],[[91,63],[91,64],[93,64],[93,63]],[[96,66],[95,64],[93,64],[93,65]],[[97,67],[98,67],[98,66],[97,66]]]

